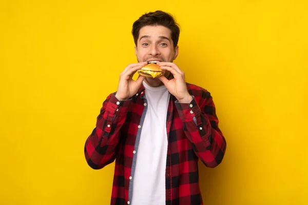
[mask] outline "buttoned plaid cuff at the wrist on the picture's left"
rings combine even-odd
[[[131,98],[127,100],[118,100],[118,98],[115,97],[115,93],[113,93],[109,99],[106,111],[112,114],[117,113],[117,115],[124,116],[127,114],[131,100]]]

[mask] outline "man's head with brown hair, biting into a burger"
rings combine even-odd
[[[139,62],[172,62],[177,58],[180,28],[170,14],[163,11],[146,13],[133,23],[131,33]],[[168,71],[164,75],[170,77]],[[152,87],[163,85],[158,78],[146,78],[146,83]]]

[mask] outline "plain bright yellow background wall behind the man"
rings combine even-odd
[[[205,204],[308,204],[305,0],[2,0],[0,204],[109,204],[114,164],[90,169],[84,143],[136,62],[133,21],[157,9],[227,140],[219,167],[200,164]]]

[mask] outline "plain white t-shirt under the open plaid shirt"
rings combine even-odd
[[[165,204],[167,160],[166,116],[170,93],[165,86],[152,88],[143,82],[147,112],[141,130],[132,205]]]

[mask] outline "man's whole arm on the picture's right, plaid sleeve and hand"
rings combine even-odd
[[[183,121],[184,132],[196,155],[205,166],[211,168],[218,166],[225,153],[226,141],[218,128],[218,118],[210,93],[203,89],[202,94],[191,96],[185,83],[185,74],[175,63],[157,64],[162,70],[167,70],[174,76],[173,79],[167,79],[165,76],[160,76],[159,79],[178,99],[176,106]]]

